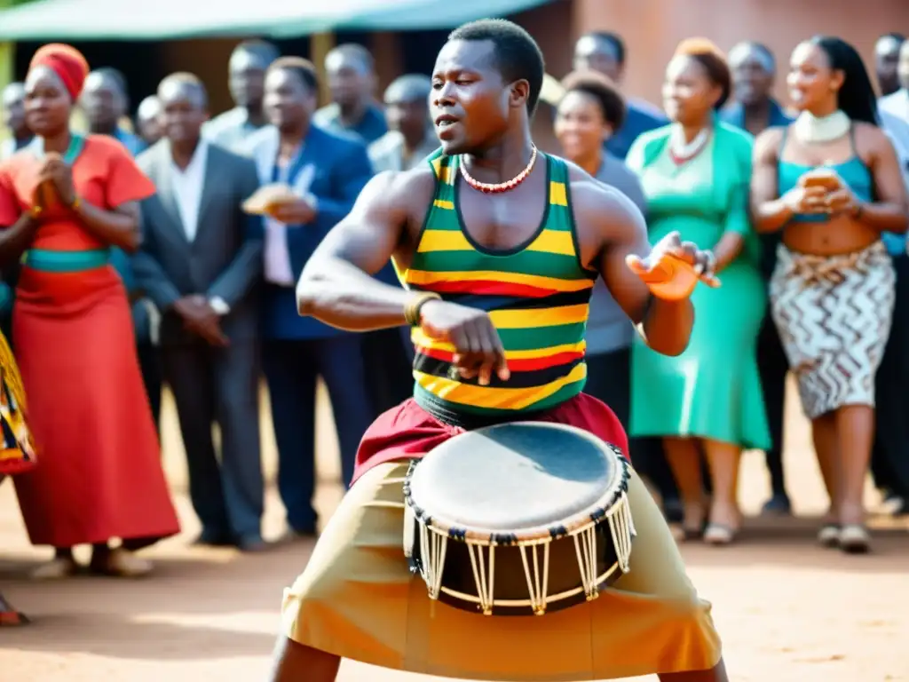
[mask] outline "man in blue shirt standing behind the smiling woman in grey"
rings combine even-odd
[[[614,33],[594,31],[581,38],[574,45],[574,70],[598,71],[608,76],[615,84],[621,84],[624,77],[625,45],[622,38]],[[614,131],[606,142],[606,150],[624,161],[628,150],[638,135],[669,123],[659,108],[644,100],[627,98],[627,115],[621,128]]]

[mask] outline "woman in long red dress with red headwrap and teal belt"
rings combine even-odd
[[[56,550],[35,571],[45,578],[75,573],[72,547],[83,544],[96,573],[145,574],[151,565],[131,550],[178,531],[109,263],[111,246],[135,251],[136,202],[155,186],[115,139],[70,132],[87,72],[68,45],[35,53],[25,79],[35,141],[0,165],[0,256],[25,252],[13,339],[42,460],[15,487],[32,543]]]

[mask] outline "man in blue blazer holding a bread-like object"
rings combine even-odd
[[[295,284],[315,247],[354,206],[372,176],[366,146],[312,123],[318,96],[315,67],[282,57],[265,75],[271,122],[251,135],[246,151],[264,185],[290,186],[295,202],[265,220],[263,339],[265,379],[278,446],[278,489],[292,534],[315,533],[315,384],[321,376],[335,414],[345,483],[371,423],[360,336],[301,317]]]

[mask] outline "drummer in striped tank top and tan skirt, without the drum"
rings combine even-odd
[[[486,680],[728,679],[710,605],[634,473],[631,570],[579,606],[543,617],[449,607],[427,597],[402,552],[408,460],[464,430],[555,422],[627,452],[612,411],[581,392],[596,276],[666,355],[691,333],[693,269],[716,284],[709,254],[678,236],[651,251],[631,202],[536,151],[543,77],[543,55],[520,27],[455,30],[430,95],[441,151],[375,176],[305,268],[302,315],[354,331],[415,327],[416,386],[366,432],[355,484],[285,592],[274,682],[330,682],[341,657]],[[391,256],[406,291],[372,277]]]

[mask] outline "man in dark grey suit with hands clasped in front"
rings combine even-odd
[[[163,314],[165,380],[202,521],[199,542],[255,551],[265,547],[255,303],[263,227],[241,205],[258,176],[253,161],[201,137],[207,97],[194,75],[167,76],[158,97],[165,138],[138,158],[158,193],[142,203],[135,277]]]

